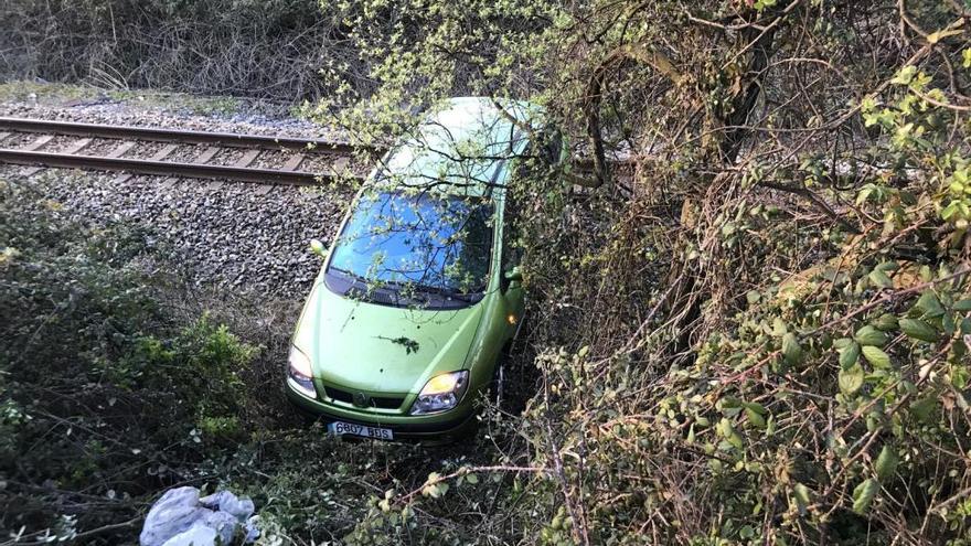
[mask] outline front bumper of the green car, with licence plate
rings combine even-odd
[[[476,411],[471,404],[469,404],[469,399],[472,397],[468,393],[466,394],[466,399],[457,408],[449,411],[425,416],[390,416],[369,414],[326,404],[296,390],[290,385],[290,382],[286,382],[286,385],[287,397],[290,398],[290,402],[313,416],[323,417],[328,421],[340,420],[355,425],[387,428],[394,432],[395,438],[423,439],[460,436],[471,430],[476,425]]]

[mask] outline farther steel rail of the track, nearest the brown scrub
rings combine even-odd
[[[183,129],[81,124],[74,121],[9,117],[0,117],[0,130],[109,139],[127,138],[135,140],[152,140],[157,142],[182,142],[234,148],[260,148],[267,150],[286,149],[311,152],[334,151],[341,153],[351,153],[360,149],[366,149],[369,151],[375,150],[373,148],[359,147],[346,142],[331,142],[329,140],[320,139],[267,137],[262,135],[241,135],[234,132],[205,132]]]

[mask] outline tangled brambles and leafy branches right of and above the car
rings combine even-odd
[[[530,97],[575,152],[634,158],[631,193],[512,189],[541,379],[502,457],[549,472],[506,481],[501,515],[468,523],[436,485],[359,531],[405,528],[401,501],[442,540],[500,518],[546,544],[968,540],[956,6],[343,6],[375,87],[318,119],[371,141],[401,104]]]

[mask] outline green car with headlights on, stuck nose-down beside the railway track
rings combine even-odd
[[[523,323],[506,183],[533,158],[563,159],[540,119],[529,103],[439,105],[371,173],[330,250],[313,243],[324,263],[286,389],[332,433],[390,440],[473,425]]]

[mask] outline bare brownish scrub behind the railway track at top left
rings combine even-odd
[[[0,78],[271,98],[328,90],[338,24],[312,0],[39,2],[0,7]]]

